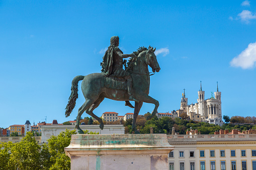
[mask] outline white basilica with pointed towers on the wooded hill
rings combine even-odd
[[[222,114],[221,114],[221,92],[218,89],[214,92],[214,96],[205,99],[205,92],[202,90],[202,83],[200,90],[198,91],[197,103],[188,105],[188,98],[182,94],[181,107],[177,110],[178,116],[182,113],[186,113],[191,120],[208,122],[210,124],[222,126]]]

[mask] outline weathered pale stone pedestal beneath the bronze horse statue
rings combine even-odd
[[[65,153],[71,170],[168,170],[173,149],[166,134],[74,134]]]

